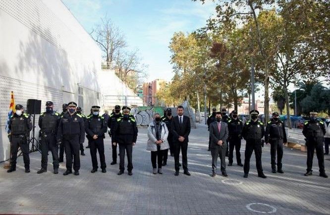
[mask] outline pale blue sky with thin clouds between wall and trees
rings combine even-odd
[[[62,0],[87,32],[107,14],[125,35],[128,50],[139,49],[148,65],[147,80],[173,77],[169,42],[174,32],[190,33],[215,13],[211,1],[191,0]]]

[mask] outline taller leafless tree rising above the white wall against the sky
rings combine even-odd
[[[107,69],[112,68],[118,52],[126,47],[123,34],[114,26],[110,18],[105,15],[90,35],[103,51]]]

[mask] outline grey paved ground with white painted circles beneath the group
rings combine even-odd
[[[0,214],[330,214],[330,179],[318,176],[316,159],[315,175],[305,177],[306,153],[285,148],[285,174],[274,174],[270,148],[266,146],[262,161],[267,179],[257,177],[254,158],[247,179],[242,177],[243,167],[235,162],[227,167],[228,178],[213,178],[207,139],[205,127],[192,129],[188,146],[191,176],[183,175],[182,170],[174,176],[172,157],[163,175],[151,173],[150,152],[145,150],[146,128],[140,128],[133,150],[133,176],[128,176],[127,171],[118,176],[118,164],[110,166],[109,138],[107,173],[90,173],[89,151],[81,158],[79,176],[63,176],[64,164],[57,175],[51,171],[37,174],[39,152],[30,155],[31,173],[24,173],[22,157],[16,172],[10,174],[0,163]],[[244,149],[243,143],[243,159]],[[330,161],[325,164],[330,170]],[[52,168],[50,164],[48,170]]]

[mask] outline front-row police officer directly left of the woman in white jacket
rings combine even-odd
[[[127,170],[128,175],[132,175],[132,150],[135,146],[138,129],[136,126],[134,116],[129,114],[130,108],[125,107],[123,109],[123,116],[117,119],[117,122],[113,126],[113,132],[111,131],[112,144],[119,144],[119,172],[118,175],[124,173],[124,162],[125,162],[125,150],[127,153]]]

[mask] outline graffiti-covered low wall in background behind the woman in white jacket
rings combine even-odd
[[[136,119],[137,126],[147,126],[154,120],[154,113],[163,115],[164,107],[132,107],[131,114]]]

